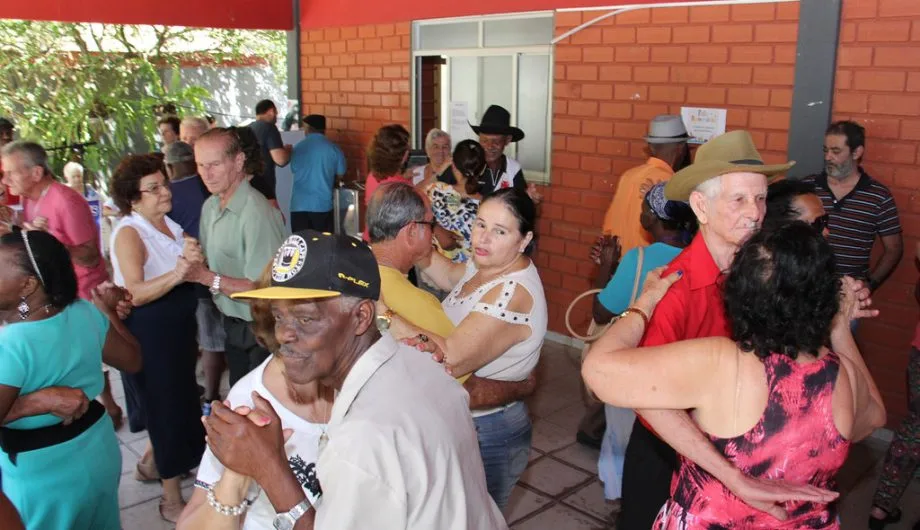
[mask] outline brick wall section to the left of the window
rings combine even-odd
[[[411,24],[301,33],[303,114],[324,114],[327,136],[348,160],[348,180],[367,175],[365,150],[383,125],[409,126]]]

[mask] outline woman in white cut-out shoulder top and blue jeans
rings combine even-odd
[[[450,291],[442,306],[457,327],[449,337],[422,334],[416,341],[423,349],[441,350],[452,374],[523,381],[536,367],[547,310],[540,276],[527,257],[535,217],[527,193],[501,190],[479,207],[470,261],[451,263],[432,252],[422,267],[439,288]],[[515,401],[474,410],[473,420],[489,494],[504,508],[530,454],[527,406]]]

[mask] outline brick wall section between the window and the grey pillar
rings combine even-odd
[[[559,35],[597,12],[557,13]],[[798,4],[659,8],[617,15],[556,46],[552,185],[537,263],[550,328],[588,289],[588,259],[620,174],[645,159],[657,114],[683,105],[727,108],[770,161],[785,160],[795,73]],[[586,323],[590,304],[573,321]],[[585,329],[585,325],[581,326]]]

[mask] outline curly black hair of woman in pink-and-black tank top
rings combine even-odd
[[[732,340],[764,359],[817,354],[840,308],[834,251],[811,226],[794,221],[761,230],[735,255],[723,284]]]

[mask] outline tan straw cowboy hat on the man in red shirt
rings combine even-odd
[[[727,173],[760,173],[768,179],[785,173],[795,162],[766,165],[754,147],[751,133],[732,131],[701,145],[689,166],[671,177],[664,194],[671,201],[690,200],[690,192],[707,180]]]

